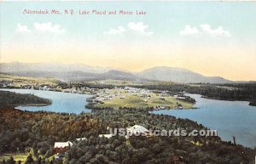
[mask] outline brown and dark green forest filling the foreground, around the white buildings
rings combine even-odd
[[[152,115],[148,110],[97,109],[90,114],[0,110],[0,154],[36,152],[26,163],[253,163],[253,150],[218,137],[99,138],[108,127],[143,125],[148,129],[205,129],[196,122],[173,116]],[[76,141],[77,138],[86,138]],[[70,140],[73,147],[62,160],[54,155],[55,142]],[[195,144],[198,143],[198,144]],[[175,161],[176,160],[176,161]],[[11,163],[12,159],[4,161]],[[3,162],[2,162],[3,163]]]

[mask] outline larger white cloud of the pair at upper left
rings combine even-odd
[[[33,25],[36,31],[51,32],[56,34],[61,34],[66,32],[65,29],[61,28],[61,25],[52,25],[51,22],[34,23]]]

